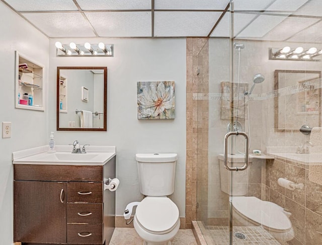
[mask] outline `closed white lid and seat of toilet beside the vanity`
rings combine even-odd
[[[168,233],[180,222],[178,207],[167,197],[144,198],[136,208],[135,217],[152,234]]]

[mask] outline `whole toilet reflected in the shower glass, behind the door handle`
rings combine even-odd
[[[221,191],[229,195],[229,175],[223,165],[223,154],[219,154],[220,168],[220,186]],[[252,167],[252,157],[249,158]],[[228,164],[233,162],[233,166],[240,167],[244,165],[244,154],[229,155],[227,158]],[[256,197],[246,197],[247,183],[250,177],[247,170],[234,172],[234,187],[233,187],[233,218],[238,221],[238,224],[243,226],[262,226],[266,229],[277,241],[284,244],[284,241],[289,241],[294,238],[294,230],[289,219],[290,213],[284,211],[279,205],[262,201]]]

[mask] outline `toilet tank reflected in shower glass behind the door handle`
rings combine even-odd
[[[219,169],[220,169],[220,187],[221,191],[229,195],[230,186],[230,171],[223,165],[223,154],[218,155]],[[249,157],[249,163],[253,161],[253,158]],[[228,166],[242,167],[245,164],[244,154],[228,155],[227,164]],[[250,164],[251,165],[251,164]],[[248,170],[233,172],[233,188],[232,196],[246,196],[247,195],[247,183],[248,183]]]

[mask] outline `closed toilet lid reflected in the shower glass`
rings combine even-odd
[[[283,208],[275,203],[262,201],[256,197],[233,197],[232,205],[239,215],[261,224],[267,230],[285,232],[292,228]]]

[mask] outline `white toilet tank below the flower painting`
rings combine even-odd
[[[140,192],[146,196],[169,196],[174,192],[176,153],[136,154]]]

